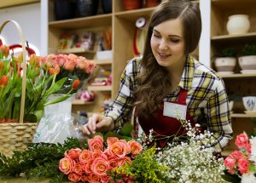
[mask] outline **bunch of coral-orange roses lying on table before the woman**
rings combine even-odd
[[[88,140],[89,149],[71,149],[61,158],[59,169],[73,182],[109,182],[108,171],[131,164],[131,160],[142,152],[143,146],[135,140],[126,142],[117,137],[108,137],[104,148],[102,136]]]

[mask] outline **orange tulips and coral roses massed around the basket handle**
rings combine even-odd
[[[26,69],[24,120],[38,122],[44,106],[66,100],[89,77],[96,64],[74,54],[30,55]],[[22,54],[15,57],[8,46],[0,47],[0,122],[18,121],[20,117]],[[64,94],[49,101],[51,94]]]

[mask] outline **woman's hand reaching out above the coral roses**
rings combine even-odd
[[[111,131],[113,128],[114,124],[112,117],[93,114],[92,117],[89,117],[88,123],[84,124],[81,130],[83,134],[91,135],[96,134],[96,132]]]

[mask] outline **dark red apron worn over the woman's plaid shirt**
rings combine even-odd
[[[171,103],[186,106],[187,94],[188,94],[187,90],[180,89],[177,101],[172,101]],[[170,139],[165,138],[166,136],[173,136],[173,135],[180,136],[180,135],[186,134],[185,129],[182,127],[181,122],[178,121],[177,118],[163,116],[163,111],[164,111],[163,106],[164,105],[162,105],[162,107],[158,111],[154,112],[154,115],[149,115],[149,117],[147,118],[138,117],[138,122],[140,123],[145,134],[148,135],[149,130],[153,129],[154,137],[156,135],[156,138],[154,138],[155,140],[154,142],[156,142],[158,147],[164,147],[166,146],[166,142],[168,140],[172,140],[172,138]],[[135,117],[137,117],[136,112],[135,112]],[[192,126],[195,126],[195,122],[193,118],[190,117],[189,115],[188,108],[186,113],[186,120],[189,121]]]

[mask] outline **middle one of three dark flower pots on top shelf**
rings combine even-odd
[[[77,0],[77,9],[80,17],[97,14],[99,0]]]

